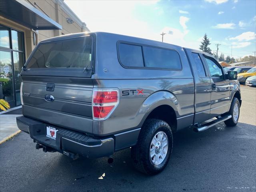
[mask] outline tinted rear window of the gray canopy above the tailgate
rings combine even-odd
[[[92,68],[92,37],[41,43],[26,68]]]

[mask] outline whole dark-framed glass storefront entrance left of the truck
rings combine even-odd
[[[25,62],[24,34],[0,25],[0,99],[11,107],[21,104],[20,72]]]

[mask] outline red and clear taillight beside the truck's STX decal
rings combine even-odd
[[[118,90],[94,90],[92,111],[94,120],[105,120],[118,105]]]

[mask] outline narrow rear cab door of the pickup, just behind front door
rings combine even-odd
[[[194,50],[186,50],[186,52],[195,82],[194,124],[196,124],[209,119],[212,85],[208,70],[206,70],[206,66],[202,62],[203,55]]]

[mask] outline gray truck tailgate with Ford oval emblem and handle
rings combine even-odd
[[[23,115],[52,125],[92,133],[92,79],[22,76]],[[47,84],[54,84],[47,91]],[[46,95],[54,97],[52,102]]]

